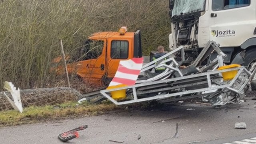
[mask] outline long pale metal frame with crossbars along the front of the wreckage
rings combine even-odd
[[[221,74],[222,72],[230,72],[233,70],[238,70],[238,74],[236,75],[236,77],[229,81],[229,82],[219,82],[220,78],[216,78],[216,77],[210,77],[212,75],[215,74]],[[248,84],[249,82],[249,78],[245,78],[243,80],[240,81],[239,86],[241,87],[236,87],[233,88],[234,84],[236,83],[236,81],[239,79],[239,77],[241,76],[242,72],[245,72],[247,75],[249,75],[249,73],[247,73],[247,71],[245,70],[244,66],[241,66],[239,68],[230,68],[230,69],[226,69],[226,70],[215,70],[212,72],[204,72],[204,73],[200,73],[200,74],[193,74],[193,75],[189,75],[189,76],[183,76],[183,77],[178,77],[178,78],[171,78],[171,79],[167,79],[167,80],[161,80],[161,81],[157,81],[157,82],[148,82],[148,83],[143,83],[143,84],[136,84],[134,86],[127,86],[127,87],[122,87],[122,88],[115,88],[115,89],[111,89],[111,90],[101,90],[101,94],[103,94],[106,98],[108,98],[110,101],[112,101],[114,104],[116,105],[122,105],[122,104],[132,104],[135,102],[144,102],[144,101],[148,101],[148,100],[158,100],[161,98],[170,98],[170,97],[175,97],[175,96],[181,96],[182,95],[187,95],[187,94],[200,94],[200,92],[205,92],[205,91],[209,91],[209,90],[218,90],[218,89],[228,89],[231,90],[233,92],[236,92],[237,94],[240,94],[244,88],[244,86],[246,84]],[[194,90],[185,90],[183,89],[183,91],[180,92],[174,92],[171,94],[160,94],[160,95],[155,95],[155,96],[151,96],[148,98],[138,98],[137,96],[137,88],[140,87],[144,87],[144,86],[154,86],[157,84],[167,84],[170,82],[175,82],[175,81],[180,81],[180,80],[188,80],[188,79],[195,79],[195,78],[200,78],[200,77],[206,77],[207,82],[204,84],[207,84],[207,86],[205,88],[196,88]],[[212,83],[217,84],[218,86],[212,86]],[[198,84],[203,84],[203,82],[196,82],[196,83],[191,83],[191,84],[182,84],[182,85],[178,85],[176,87],[170,87],[172,89],[179,89],[179,88],[187,88],[187,87],[191,87],[191,86],[196,86]],[[133,100],[127,100],[127,101],[123,101],[123,102],[118,102],[117,100],[114,100],[111,95],[109,94],[109,92],[112,91],[116,91],[116,90],[123,90],[123,89],[132,89],[132,93],[133,93]],[[164,88],[162,88],[162,90],[164,90]],[[155,93],[155,92],[154,92]],[[206,94],[205,94],[206,95]]]

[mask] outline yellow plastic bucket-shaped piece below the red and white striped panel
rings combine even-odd
[[[119,84],[119,85],[116,85],[116,86],[109,86],[106,89],[110,90],[110,89],[114,89],[114,88],[122,88],[122,87],[125,87],[125,86],[127,86],[127,85]],[[116,90],[116,91],[110,92],[110,94],[111,94],[111,97],[114,98],[115,100],[124,99],[124,98],[126,98],[126,89]]]

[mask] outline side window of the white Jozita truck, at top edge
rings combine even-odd
[[[212,0],[212,10],[226,10],[249,6],[250,0]]]

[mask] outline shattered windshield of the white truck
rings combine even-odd
[[[203,11],[205,8],[205,0],[175,0],[172,15],[180,15],[180,13],[190,13]]]

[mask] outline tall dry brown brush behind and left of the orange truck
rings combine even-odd
[[[83,45],[93,32],[142,30],[143,53],[168,46],[167,0],[1,0],[0,90],[66,86],[48,72],[52,58]],[[85,90],[86,91],[86,90]]]

